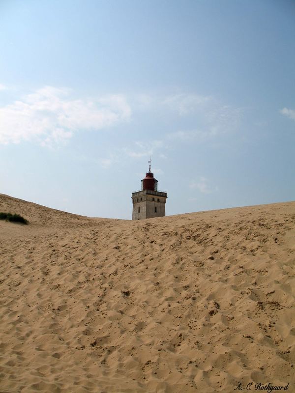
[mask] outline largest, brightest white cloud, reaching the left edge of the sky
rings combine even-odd
[[[131,117],[123,95],[73,100],[70,93],[46,86],[0,108],[0,143],[34,140],[51,146],[68,140],[75,131],[99,130]]]

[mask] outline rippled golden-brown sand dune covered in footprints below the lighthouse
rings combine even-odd
[[[295,391],[295,202],[142,221],[0,195],[0,392]]]

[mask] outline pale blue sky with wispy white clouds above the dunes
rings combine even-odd
[[[295,199],[295,1],[1,0],[0,193],[130,220]],[[21,213],[21,212],[12,212]]]

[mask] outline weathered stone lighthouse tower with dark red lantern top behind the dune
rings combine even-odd
[[[132,220],[165,216],[167,193],[158,191],[158,180],[153,177],[153,173],[150,171],[150,159],[148,163],[149,170],[141,181],[141,191],[132,193]]]

